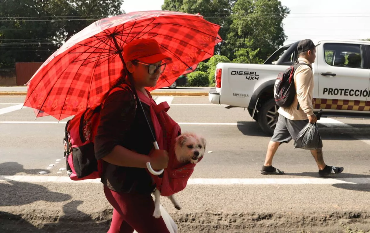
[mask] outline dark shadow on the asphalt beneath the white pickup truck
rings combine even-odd
[[[355,141],[357,139],[351,137],[348,133],[354,134],[366,134],[369,130],[369,125],[357,125],[353,124],[353,126],[357,126],[355,129],[353,128],[341,128],[341,127],[333,127],[329,128],[323,126],[321,124],[317,124],[319,126],[320,135],[323,140],[342,140],[342,141]],[[260,128],[258,122],[255,121],[238,121],[238,129],[242,132],[243,135],[247,136],[260,136],[260,137],[271,137],[272,135],[266,134]]]

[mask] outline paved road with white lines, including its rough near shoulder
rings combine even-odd
[[[85,230],[106,232],[111,208],[101,184],[67,182],[59,170],[65,167],[62,138],[69,118],[59,124],[52,117],[35,119],[32,109],[17,107],[23,100],[0,97],[0,232],[74,232],[71,222],[77,221],[85,221]],[[183,209],[161,199],[179,232],[338,232],[340,222],[369,230],[368,120],[323,119],[319,124],[325,161],[344,166],[337,178],[318,178],[310,153],[293,149],[292,142],[282,145],[274,159],[287,174],[263,176],[259,170],[270,138],[242,108],[209,105],[207,97],[157,101],[171,102],[169,114],[182,131],[207,139],[209,153],[177,195]],[[14,225],[9,220],[14,215],[26,223]]]

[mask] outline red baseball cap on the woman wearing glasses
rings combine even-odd
[[[134,39],[123,48],[123,59],[125,62],[138,60],[142,63],[153,64],[165,59],[171,60],[165,55],[157,40],[154,39]]]

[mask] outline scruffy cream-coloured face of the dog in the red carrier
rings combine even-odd
[[[193,133],[184,133],[176,138],[175,153],[180,162],[197,163],[203,157],[206,140]]]

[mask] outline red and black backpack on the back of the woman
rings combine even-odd
[[[122,88],[113,88],[110,94]],[[97,179],[101,176],[102,163],[95,158],[94,151],[101,106],[87,108],[65,124],[64,159],[71,180]]]

